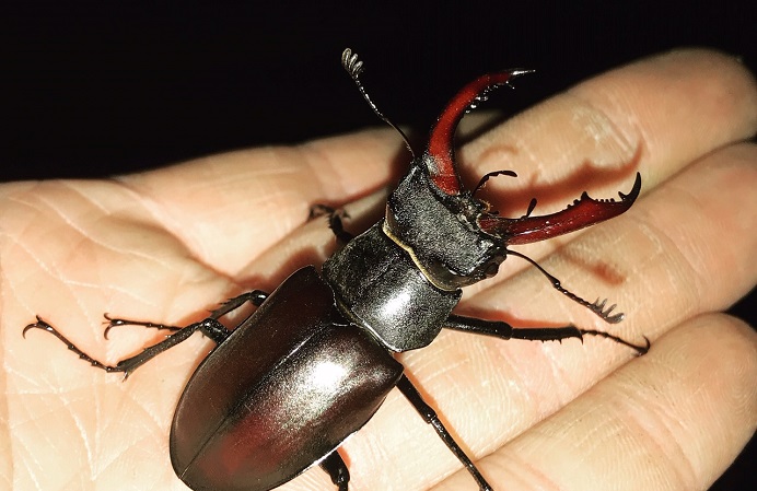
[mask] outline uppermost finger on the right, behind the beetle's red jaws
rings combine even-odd
[[[732,57],[677,50],[583,82],[511,119],[463,153],[477,174],[516,169],[521,178],[496,183],[527,183],[527,203],[534,191],[554,198],[555,183],[560,184],[558,192],[568,196],[598,184],[614,191],[637,171],[648,190],[755,131],[753,75]],[[563,206],[562,198],[557,201]]]

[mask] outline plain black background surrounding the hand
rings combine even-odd
[[[516,112],[675,47],[757,62],[747,1],[256,3],[1,5],[0,182],[108,176],[378,125],[339,67],[348,46],[383,112],[422,131],[496,69],[538,70],[492,104]],[[757,325],[756,301],[733,312]],[[712,489],[754,489],[756,454],[753,442]]]

